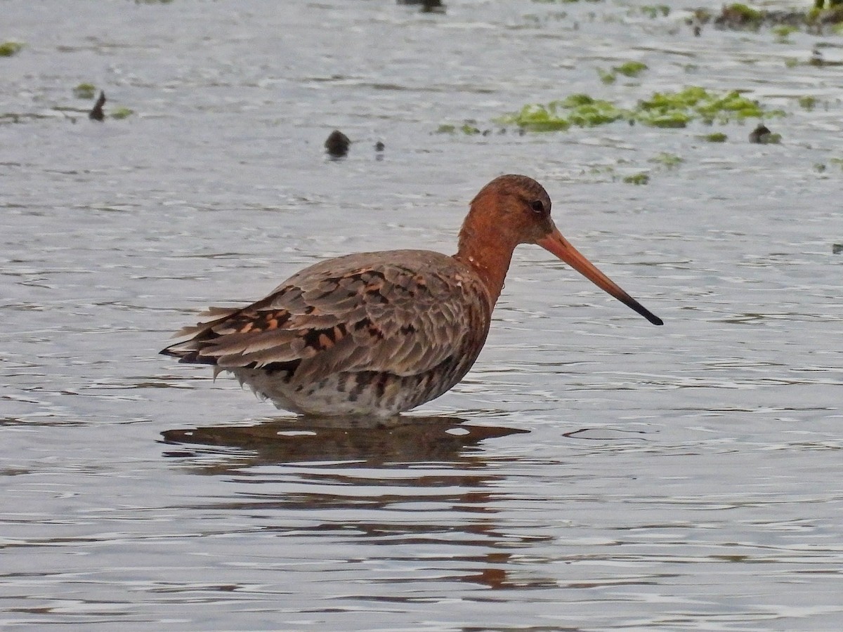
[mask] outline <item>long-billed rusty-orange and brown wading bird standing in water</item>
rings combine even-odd
[[[209,308],[160,351],[228,371],[279,409],[395,418],[464,378],[486,342],[513,250],[538,244],[652,324],[662,319],[562,236],[550,196],[525,175],[475,195],[457,252],[346,254],[298,271],[244,308]]]

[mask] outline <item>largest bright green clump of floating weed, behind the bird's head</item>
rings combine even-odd
[[[691,86],[679,92],[654,93],[631,110],[621,109],[588,94],[572,94],[549,104],[528,104],[499,122],[512,123],[529,131],[561,131],[571,126],[593,127],[615,121],[639,122],[652,127],[685,127],[690,121],[725,124],[749,118],[783,116],[781,110],[765,110],[757,101],[737,90],[717,93]]]

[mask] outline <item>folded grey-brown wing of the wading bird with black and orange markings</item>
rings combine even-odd
[[[313,265],[242,309],[215,317],[163,353],[182,362],[309,372],[425,372],[486,337],[489,299],[470,270],[424,251],[354,254]],[[481,344],[482,344],[481,339]]]

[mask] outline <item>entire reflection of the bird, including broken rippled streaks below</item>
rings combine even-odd
[[[427,580],[407,568],[493,589],[556,586],[513,556],[545,538],[522,538],[502,523],[502,504],[513,502],[501,485],[512,458],[478,445],[525,432],[402,416],[386,424],[288,417],[162,434],[167,456],[236,483],[233,495],[218,496],[215,485],[204,501],[191,495],[191,511],[236,517],[238,533],[252,523],[295,557],[317,550],[314,543],[347,551],[344,572],[357,573],[361,590],[378,593],[388,581],[391,599],[413,602]],[[369,565],[387,560],[388,578],[371,576]]]

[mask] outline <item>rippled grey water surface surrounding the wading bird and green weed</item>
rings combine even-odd
[[[3,0],[0,628],[843,627],[843,69],[808,64],[843,38],[667,4]],[[783,142],[493,122],[691,84]],[[387,430],[157,355],[316,260],[454,251],[502,173],[666,324],[521,247],[474,370]]]

